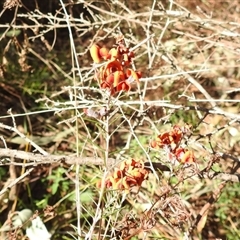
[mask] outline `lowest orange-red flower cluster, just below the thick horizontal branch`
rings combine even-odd
[[[125,190],[129,192],[130,187],[140,187],[142,182],[147,179],[148,173],[141,160],[126,160],[107,177],[105,186],[113,190]]]

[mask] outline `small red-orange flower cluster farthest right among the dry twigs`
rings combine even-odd
[[[177,159],[180,163],[193,163],[195,157],[192,151],[180,146],[184,133],[189,131],[189,127],[174,126],[171,131],[164,132],[157,136],[156,140],[150,143],[152,148],[167,147],[170,150],[170,160]]]

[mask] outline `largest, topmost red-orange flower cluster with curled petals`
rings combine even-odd
[[[101,88],[109,89],[111,95],[121,90],[129,91],[131,82],[139,82],[141,72],[129,68],[134,53],[125,46],[124,39],[117,41],[117,47],[110,50],[94,44],[90,48],[90,54],[95,63],[107,61],[97,73],[97,79]]]

